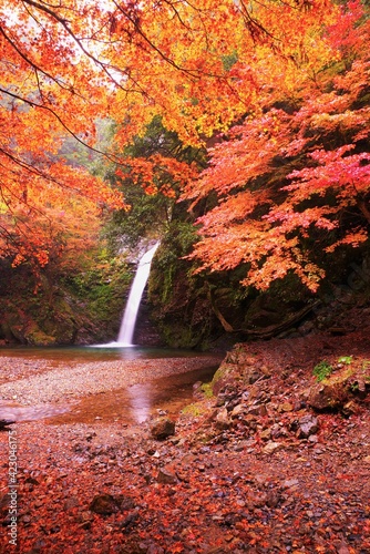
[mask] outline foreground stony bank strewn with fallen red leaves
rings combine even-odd
[[[359,378],[346,409],[309,406],[319,361],[333,377],[348,366],[367,376],[367,331],[236,347],[223,363],[228,377],[218,380],[217,396],[169,413],[175,434],[162,441],[150,421],[127,427],[54,418],[12,425],[19,464],[13,551],[368,553],[369,394],[358,393]],[[317,420],[306,434],[302,418]],[[7,431],[0,441],[1,552],[8,553]]]

